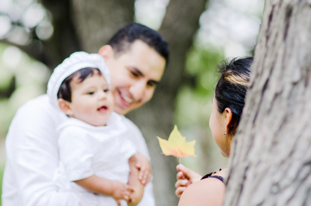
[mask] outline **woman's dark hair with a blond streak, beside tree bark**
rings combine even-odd
[[[215,99],[220,113],[227,107],[232,111],[229,124],[232,135],[241,118],[252,63],[253,57],[243,57],[225,60],[217,66],[220,77],[215,87]]]

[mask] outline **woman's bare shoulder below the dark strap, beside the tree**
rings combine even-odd
[[[225,184],[217,178],[206,178],[189,185],[180,197],[178,206],[222,205]]]

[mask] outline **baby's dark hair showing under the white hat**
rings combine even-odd
[[[79,83],[83,82],[87,77],[89,76],[93,76],[94,75],[94,71],[98,72],[98,75],[102,75],[102,73],[100,72],[100,70],[98,68],[91,68],[91,67],[86,67],[86,68],[82,68],[79,69],[78,71],[72,73],[71,75],[69,75],[68,77],[66,77],[66,79],[64,79],[64,81],[62,82],[62,84],[59,87],[59,90],[57,92],[57,98],[62,98],[68,102],[71,102],[71,87],[70,87],[70,82],[72,80],[73,77],[79,75]]]

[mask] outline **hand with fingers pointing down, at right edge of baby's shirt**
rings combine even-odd
[[[138,180],[140,180],[141,183],[146,186],[151,177],[150,162],[145,156],[139,153],[136,153],[134,157],[136,160],[135,166],[138,169]]]

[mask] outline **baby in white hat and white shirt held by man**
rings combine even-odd
[[[55,181],[83,205],[137,205],[144,186],[132,157],[136,149],[113,111],[109,88],[109,69],[99,54],[76,52],[54,69],[49,100],[69,117],[58,127]]]

